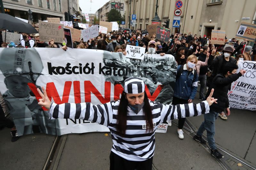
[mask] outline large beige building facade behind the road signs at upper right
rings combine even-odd
[[[158,0],[157,14],[164,21],[170,19],[172,33],[189,33],[203,36],[211,35],[212,29],[225,30],[228,39],[236,35],[242,21],[256,24],[255,0],[181,0],[180,27],[174,28],[173,17],[177,0]],[[136,14],[136,27],[146,29],[155,17],[156,0],[125,0],[126,27],[129,17]],[[131,9],[131,10],[130,10]]]

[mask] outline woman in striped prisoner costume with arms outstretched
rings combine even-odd
[[[185,116],[206,114],[209,112],[209,106],[216,102],[211,98],[214,90],[206,101],[198,104],[164,105],[151,101],[145,92],[145,83],[140,78],[125,79],[120,100],[101,105],[93,105],[90,102],[52,103],[44,87],[42,89],[43,93],[37,89],[42,97],[38,104],[49,109],[50,119],[82,119],[109,128],[113,140],[109,156],[111,170],[124,167],[151,170],[155,151],[155,130],[158,124]],[[193,107],[195,109],[189,109]]]

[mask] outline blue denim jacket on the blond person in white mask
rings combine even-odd
[[[178,65],[178,70],[180,69],[181,65]],[[188,75],[187,64],[184,64],[183,71],[178,79],[176,79],[175,87],[174,87],[174,96],[180,99],[191,99],[194,100],[196,96],[197,90],[197,81],[198,81],[198,74],[194,79],[195,70],[193,69],[192,72]],[[188,77],[188,78],[187,78]],[[194,79],[194,80],[193,80]]]

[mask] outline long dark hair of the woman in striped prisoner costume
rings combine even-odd
[[[126,131],[126,125],[127,125],[127,107],[128,107],[128,101],[126,99],[126,93],[123,92],[120,98],[120,103],[118,106],[117,111],[117,132],[121,135],[125,135]],[[143,106],[143,113],[145,115],[146,124],[149,125],[149,129],[146,130],[146,132],[152,132],[153,131],[153,115],[151,111],[151,106],[148,102],[148,96],[147,93],[144,92],[144,106]]]

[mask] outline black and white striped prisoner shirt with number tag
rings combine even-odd
[[[153,132],[146,132],[146,118],[143,109],[138,114],[132,112],[130,107],[127,112],[127,128],[124,137],[116,132],[118,101],[111,101],[102,105],[92,103],[52,103],[49,113],[50,119],[70,118],[97,122],[107,126],[113,140],[112,152],[124,159],[144,161],[154,155],[155,130],[157,125],[170,119],[180,119],[189,116],[198,116],[209,113],[207,101],[198,104],[163,105],[150,101],[153,114]]]

